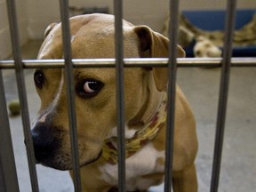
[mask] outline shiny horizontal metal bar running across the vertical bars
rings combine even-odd
[[[64,68],[65,60],[22,60],[23,68]],[[74,68],[115,68],[115,59],[73,59]],[[178,58],[178,68],[202,68],[221,67],[221,58]],[[124,67],[167,67],[168,58],[141,58],[124,59]],[[232,58],[231,67],[248,68],[256,67],[256,58]],[[10,69],[14,67],[14,60],[0,60],[0,69]]]

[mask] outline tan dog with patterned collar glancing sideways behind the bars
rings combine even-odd
[[[92,14],[70,19],[74,58],[115,58],[114,16]],[[63,57],[60,24],[48,28],[38,59]],[[168,39],[146,26],[124,21],[124,57],[167,57]],[[178,46],[179,57],[185,53]],[[166,68],[124,69],[127,191],[146,191],[163,182],[166,126]],[[117,187],[116,77],[114,68],[76,68],[76,120],[83,191]],[[33,124],[36,160],[70,170],[66,84],[63,69],[37,69],[42,104]],[[197,151],[194,116],[177,87],[173,159],[175,192],[196,191]],[[72,172],[71,172],[72,175]]]

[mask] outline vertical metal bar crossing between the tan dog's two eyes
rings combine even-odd
[[[76,132],[76,110],[75,110],[75,86],[73,76],[72,52],[70,43],[70,27],[68,15],[68,0],[60,0],[60,15],[62,21],[62,41],[65,59],[65,80],[67,84],[69,131],[72,153],[72,165],[74,171],[75,191],[81,191],[81,178],[79,169],[79,153]]]

